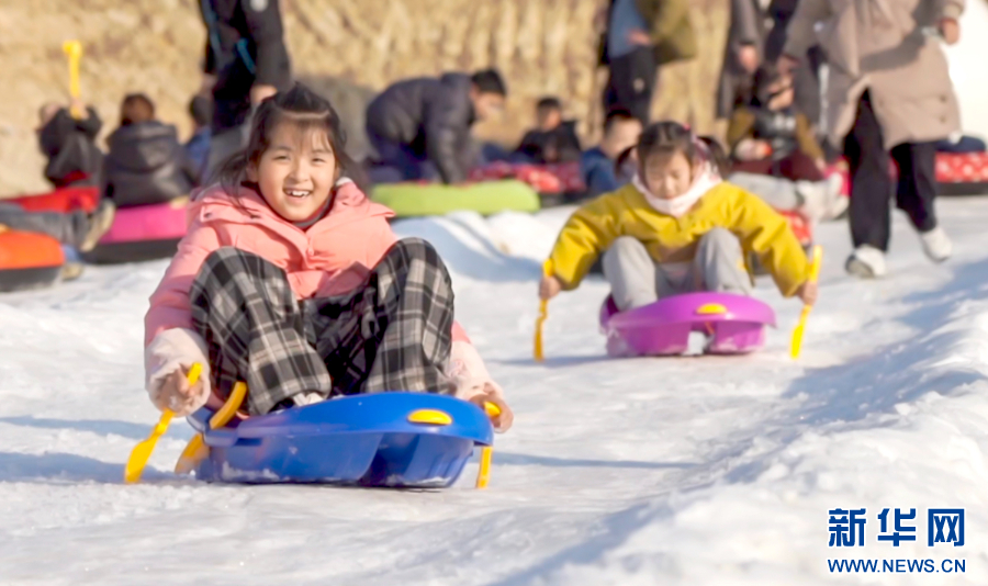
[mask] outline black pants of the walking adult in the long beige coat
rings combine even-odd
[[[891,229],[891,195],[919,232],[936,227],[933,200],[936,196],[936,143],[903,143],[885,150],[882,126],[872,109],[868,92],[861,98],[857,117],[844,140],[844,156],[851,167],[851,239],[854,247],[869,245],[888,250]],[[899,167],[892,185],[889,162]]]

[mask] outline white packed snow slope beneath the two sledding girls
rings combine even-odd
[[[0,584],[102,586],[988,584],[988,201],[941,201],[956,255],[931,264],[897,218],[889,278],[846,277],[843,224],[804,357],[799,304],[743,358],[611,360],[591,279],[550,304],[531,360],[539,264],[565,217],[396,224],[453,272],[459,319],[517,419],[491,486],[207,485],[170,469],[121,483],[157,413],[142,317],[165,262],[89,269],[0,296]],[[867,508],[867,546],[828,549],[828,510]],[[877,543],[882,508],[965,507],[966,545]],[[827,559],[964,559],[964,574],[831,574]],[[939,565],[936,567],[940,567]]]

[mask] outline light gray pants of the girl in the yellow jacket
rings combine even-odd
[[[681,293],[749,295],[752,289],[741,243],[725,228],[714,228],[700,238],[692,262],[656,263],[643,244],[622,236],[604,253],[603,264],[610,294],[622,312]]]

